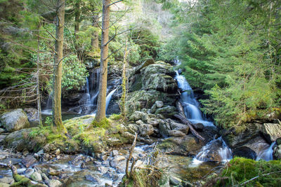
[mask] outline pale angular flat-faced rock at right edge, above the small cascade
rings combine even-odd
[[[276,141],[281,137],[281,124],[278,123],[263,123],[261,132],[268,142]]]

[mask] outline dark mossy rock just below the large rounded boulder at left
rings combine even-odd
[[[27,141],[27,139],[32,130],[33,128],[22,129],[8,134],[4,139],[6,146],[13,147],[17,151],[22,151],[24,148],[28,149],[30,141]]]

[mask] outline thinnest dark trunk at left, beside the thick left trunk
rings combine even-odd
[[[37,37],[37,110],[38,110],[38,118],[39,118],[39,126],[42,125],[42,116],[41,116],[41,97],[40,97],[40,84],[39,84],[39,50],[40,50],[40,24],[38,26],[38,37]]]

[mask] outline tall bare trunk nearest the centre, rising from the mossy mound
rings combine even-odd
[[[98,109],[96,120],[100,121],[105,118],[105,101],[107,88],[107,57],[108,57],[108,33],[110,27],[110,0],[103,0],[103,25],[101,34],[100,48],[100,83],[98,94]]]

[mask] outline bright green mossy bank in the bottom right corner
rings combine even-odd
[[[233,158],[221,172],[216,186],[280,186],[281,182],[281,162],[280,160],[255,161],[247,158]]]

